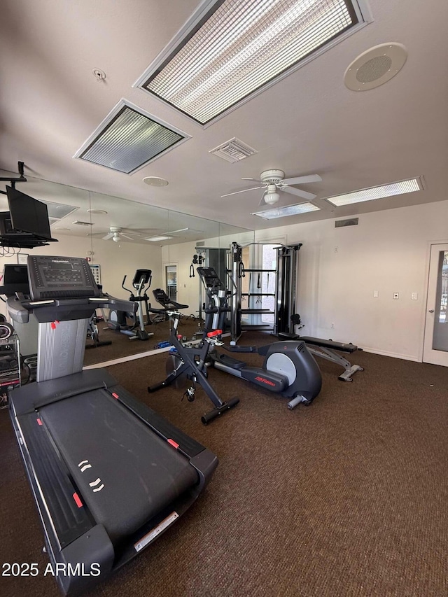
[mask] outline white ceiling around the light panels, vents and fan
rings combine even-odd
[[[25,176],[251,230],[447,199],[446,1],[370,0],[372,23],[205,129],[132,87],[198,4],[3,0],[0,168],[17,173],[22,161]],[[346,67],[386,42],[407,48],[402,71],[374,90],[348,90]],[[106,80],[97,81],[92,69]],[[73,159],[122,98],[192,138],[132,175]],[[234,136],[258,153],[236,164],[209,154]],[[323,209],[267,222],[251,216],[259,190],[221,199],[253,186],[241,177],[258,178],[265,169],[320,174],[321,183],[302,188],[316,192]],[[323,200],[421,175],[423,192],[339,208]],[[150,187],[145,176],[169,185]],[[18,188],[31,195],[26,185]],[[295,202],[281,193],[281,205]]]

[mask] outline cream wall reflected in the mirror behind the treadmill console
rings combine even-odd
[[[21,253],[87,257],[87,252],[91,250],[90,238],[88,237],[71,237],[62,236],[61,234],[58,240],[59,242],[57,243],[50,243],[48,246],[34,248],[30,251],[22,249]],[[158,288],[162,283],[162,250],[158,246],[95,240],[93,251],[94,255],[91,256],[91,262],[101,266],[102,285],[104,291],[110,295],[127,298],[129,293],[126,293],[121,288],[123,277],[127,276],[127,288],[132,288],[132,278],[134,277],[135,270],[138,268],[152,269],[153,271],[150,293],[153,288]],[[17,262],[17,255],[1,257],[0,271],[3,271],[5,263]],[[1,303],[0,309],[4,313],[3,303]]]

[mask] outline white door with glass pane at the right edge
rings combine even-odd
[[[448,367],[448,244],[430,251],[423,363]]]

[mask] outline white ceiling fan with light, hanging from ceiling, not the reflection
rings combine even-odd
[[[283,170],[265,170],[260,174],[259,181],[257,181],[256,178],[241,178],[241,180],[256,181],[260,183],[261,186],[237,190],[235,192],[228,192],[226,195],[221,195],[221,197],[237,195],[237,193],[239,192],[246,192],[248,190],[265,189],[259,205],[262,205],[263,203],[273,205],[274,203],[278,202],[280,199],[278,191],[289,192],[291,195],[296,195],[297,197],[302,197],[302,199],[307,199],[307,201],[311,201],[311,199],[314,199],[314,197],[317,197],[317,195],[302,189],[296,189],[290,185],[319,183],[321,182],[322,178],[318,174],[309,174],[308,176],[295,176],[293,178],[285,178],[285,173],[283,172]]]

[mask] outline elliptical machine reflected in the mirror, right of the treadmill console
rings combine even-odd
[[[134,292],[129,288],[125,287],[126,276],[123,278],[121,287],[130,293],[129,300],[132,302],[137,302],[138,304],[137,316],[134,316],[134,314],[127,311],[118,311],[112,309],[109,312],[109,320],[107,322],[107,327],[109,329],[116,330],[121,334],[129,336],[130,340],[148,340],[154,335],[153,332],[146,332],[143,309],[143,304],[145,304],[146,322],[147,324],[151,323],[148,311],[149,297],[146,294],[146,290],[148,290],[148,288],[151,286],[152,278],[153,272],[151,269],[137,269],[137,272],[134,274],[134,279],[132,280],[132,286],[134,287],[134,290],[137,291],[136,294],[134,294]],[[128,319],[134,320],[134,323],[129,325],[127,323]]]

